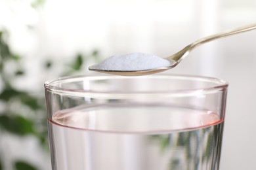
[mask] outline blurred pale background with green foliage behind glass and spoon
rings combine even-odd
[[[113,54],[167,57],[256,22],[255,0],[0,0],[0,169],[51,169],[43,82]],[[167,74],[230,83],[221,169],[256,169],[256,30],[204,44]]]

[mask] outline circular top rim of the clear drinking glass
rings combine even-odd
[[[139,79],[139,78],[173,78],[180,80],[200,80],[202,82],[212,82],[214,85],[207,88],[186,88],[182,90],[163,90],[163,91],[129,91],[129,92],[117,92],[113,90],[108,91],[99,91],[99,90],[83,90],[83,89],[72,89],[72,88],[62,88],[59,86],[54,86],[54,84],[58,84],[58,82],[77,82],[77,80],[83,80],[87,78],[87,80],[108,80],[108,79]],[[156,75],[147,75],[147,76],[117,76],[117,75],[77,75],[77,76],[63,76],[60,78],[55,78],[52,80],[47,80],[44,84],[45,90],[51,91],[54,93],[66,93],[67,95],[75,95],[75,96],[85,96],[86,94],[97,94],[97,95],[193,95],[194,93],[214,93],[221,89],[226,90],[228,88],[228,82],[221,78],[214,78],[211,76],[198,76],[198,75],[175,75],[175,74],[156,74]],[[134,97],[134,96],[133,96]]]

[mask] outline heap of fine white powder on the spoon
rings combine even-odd
[[[167,67],[171,62],[152,54],[131,53],[114,55],[101,63],[93,65],[92,69],[111,71],[139,71]]]

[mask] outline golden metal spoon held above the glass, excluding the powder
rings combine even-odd
[[[169,56],[165,59],[170,61],[170,65],[167,67],[159,67],[155,69],[146,69],[146,70],[132,70],[132,71],[118,71],[118,70],[104,70],[104,69],[95,69],[93,66],[89,67],[89,70],[96,71],[100,73],[108,73],[112,75],[121,75],[121,76],[141,76],[141,75],[151,75],[154,73],[160,73],[162,71],[167,71],[168,69],[172,69],[173,67],[177,66],[182,59],[184,59],[188,54],[194,50],[194,48],[209,42],[214,41],[216,39],[220,39],[223,37],[228,37],[230,35],[236,35],[238,33],[243,33],[245,31],[251,31],[252,29],[256,29],[256,24],[246,25],[244,27],[238,27],[236,29],[224,31],[222,33],[217,33],[214,35],[210,35],[208,37],[204,37],[202,39],[198,39],[198,41],[194,41],[173,56]]]

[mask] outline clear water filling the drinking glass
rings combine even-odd
[[[218,169],[223,120],[166,106],[60,110],[49,121],[54,170]]]

